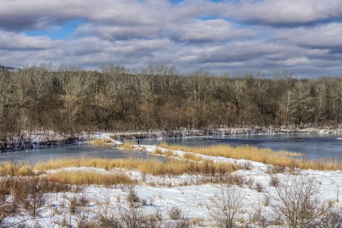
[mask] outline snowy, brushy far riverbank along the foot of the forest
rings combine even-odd
[[[183,138],[201,136],[230,136],[230,135],[250,135],[250,134],[295,134],[295,133],[342,133],[342,128],[335,126],[332,128],[227,128],[227,129],[203,129],[179,131],[137,131],[137,132],[94,132],[81,134],[56,134],[49,132],[28,133],[22,139],[0,140],[0,152],[25,150],[31,148],[52,147],[73,145],[76,143],[90,144],[121,144],[121,141],[143,140],[143,139],[164,139]]]

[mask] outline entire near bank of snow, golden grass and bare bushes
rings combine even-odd
[[[1,227],[342,225],[340,161],[313,170],[298,168],[310,164],[298,154],[248,146],[122,148],[156,158],[2,163]],[[234,158],[246,154],[250,160]]]

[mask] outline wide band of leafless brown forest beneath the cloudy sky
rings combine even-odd
[[[342,77],[299,79],[291,70],[186,74],[166,64],[32,64],[0,70],[1,140],[28,132],[177,131],[322,127],[341,123]]]

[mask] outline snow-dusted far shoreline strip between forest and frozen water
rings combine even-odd
[[[227,128],[227,129],[205,129],[179,131],[141,131],[141,132],[94,132],[93,134],[79,134],[70,138],[51,139],[49,134],[27,136],[31,141],[22,145],[15,145],[12,148],[0,150],[0,153],[8,151],[21,151],[39,149],[45,147],[68,146],[75,144],[91,144],[93,139],[108,139],[111,143],[122,144],[125,141],[168,139],[168,138],[189,138],[189,137],[215,137],[233,135],[266,135],[266,134],[331,134],[342,133],[341,127],[332,128]],[[35,138],[35,139],[31,139]],[[3,146],[3,145],[2,145]]]

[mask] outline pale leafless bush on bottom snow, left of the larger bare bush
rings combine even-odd
[[[245,192],[239,187],[222,185],[216,192],[213,200],[211,216],[218,227],[233,228],[236,226],[237,217],[244,204]]]

